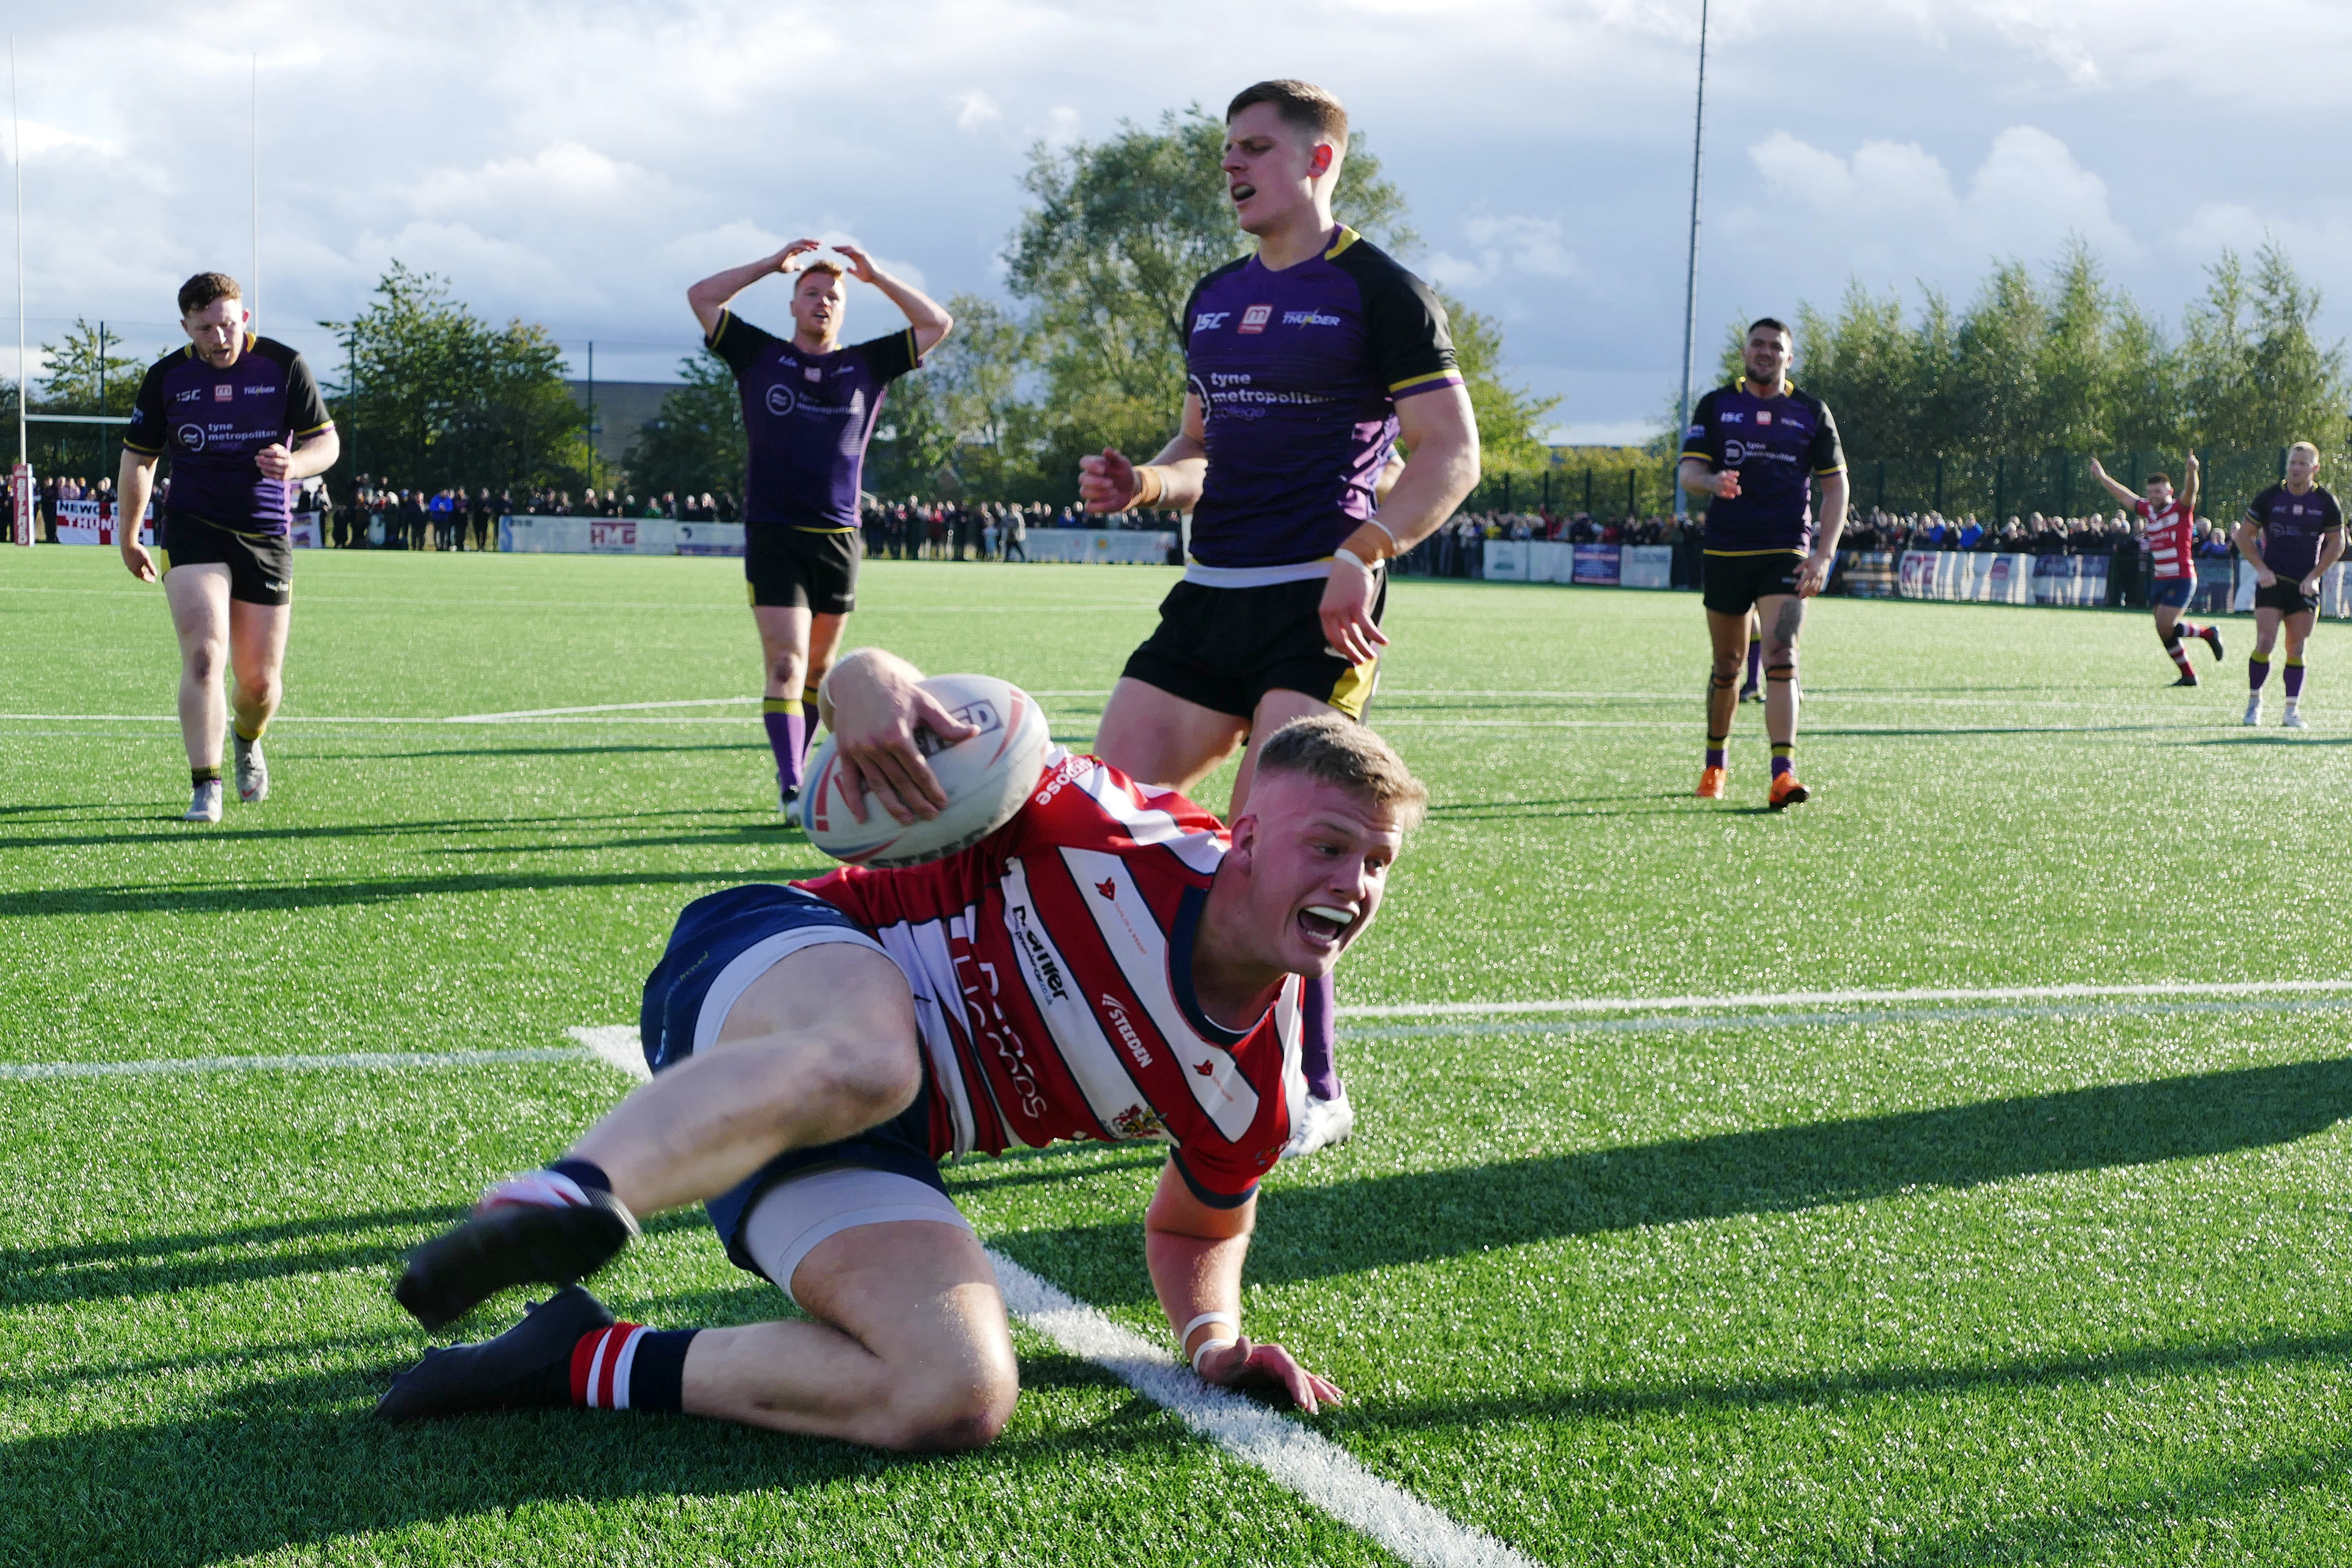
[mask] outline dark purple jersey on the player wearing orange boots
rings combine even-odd
[[[1846,473],[1830,407],[1788,388],[1757,397],[1719,386],[1691,409],[1682,456],[1710,473],[1740,470],[1740,494],[1708,503],[1708,555],[1806,555],[1813,548],[1813,480]]]

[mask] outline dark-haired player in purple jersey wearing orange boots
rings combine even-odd
[[[1809,799],[1797,783],[1797,632],[1804,602],[1830,581],[1846,529],[1846,454],[1830,407],[1788,381],[1795,339],[1764,317],[1748,329],[1743,378],[1691,409],[1682,433],[1682,487],[1715,496],[1708,508],[1705,607],[1715,670],[1708,684],[1708,757],[1698,797],[1722,799],[1724,748],[1738,712],[1750,611],[1764,628],[1764,733],[1771,741],[1773,811]],[[1820,522],[1813,520],[1820,480]]]

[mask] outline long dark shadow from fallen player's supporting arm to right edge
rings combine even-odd
[[[1912,1187],[2209,1159],[2310,1138],[2345,1117],[2352,1060],[2331,1058],[1279,1187],[1258,1208],[1249,1276],[1329,1279],[1646,1225],[1858,1204]],[[1152,1300],[1134,1225],[1009,1232],[995,1244],[1084,1300]]]

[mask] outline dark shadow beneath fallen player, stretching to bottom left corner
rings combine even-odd
[[[891,1458],[684,1415],[546,1410],[383,1425],[369,1410],[405,1366],[263,1380],[179,1420],[5,1443],[0,1561],[179,1568],[541,1500],[675,1507],[677,1497],[811,1490],[929,1465],[1000,1472],[1018,1488],[1021,1472],[1042,1476],[1073,1460],[1150,1474],[1183,1465],[1192,1446],[1138,1396],[1073,1429],[1016,1418],[1004,1441],[960,1458]],[[1115,1387],[1108,1373],[1056,1354],[1023,1356],[1021,1380],[1030,1392]]]

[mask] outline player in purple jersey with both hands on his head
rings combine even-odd
[[[736,374],[750,475],[743,482],[743,576],[767,663],[767,745],[776,755],[776,809],[790,811],[816,738],[816,703],[842,625],[858,595],[858,480],[866,442],[882,414],[882,390],[938,348],[955,320],[922,289],[880,270],[854,244],[830,247],[849,277],[882,289],[906,315],[906,331],[840,346],[849,289],[842,263],[802,261],[816,240],[793,240],[774,256],[713,273],[687,289],[703,343]],[[793,336],[776,339],[729,301],[771,273],[793,284]]]

